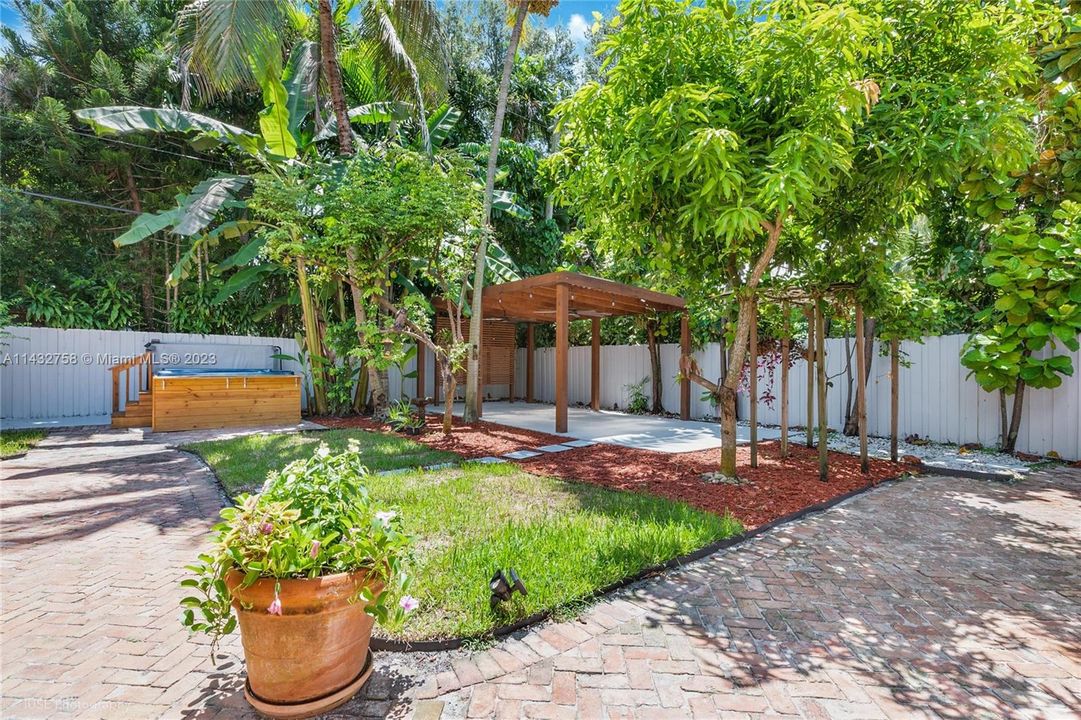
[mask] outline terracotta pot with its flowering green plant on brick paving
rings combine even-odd
[[[183,623],[212,637],[212,653],[239,625],[244,696],[264,715],[310,717],[348,701],[371,675],[374,622],[416,608],[402,595],[409,537],[366,476],[355,443],[341,454],[320,444],[271,472],[222,510],[214,549],[182,583],[199,592],[182,601]]]

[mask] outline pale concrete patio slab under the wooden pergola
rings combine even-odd
[[[461,405],[454,413],[461,414]],[[441,413],[442,408],[430,409]],[[499,425],[520,427],[536,432],[561,435],[569,439],[606,442],[637,450],[662,453],[692,453],[721,446],[721,426],[717,423],[681,421],[655,415],[628,415],[611,410],[595,412],[588,408],[569,408],[569,432],[556,432],[556,406],[536,402],[485,402],[484,419]],[[736,428],[736,442],[750,441],[746,426]],[[759,440],[780,437],[777,428],[759,427]],[[580,445],[574,445],[580,446]]]

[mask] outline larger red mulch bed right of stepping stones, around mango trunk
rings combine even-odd
[[[745,480],[739,485],[703,480],[704,472],[720,465],[720,450],[672,454],[600,444],[531,457],[522,466],[530,472],[682,501],[718,515],[729,511],[748,529],[911,469],[872,459],[870,471],[863,475],[858,457],[830,453],[829,481],[819,482],[816,450],[789,443],[783,461],[775,441],[759,443],[757,468],[750,466],[747,445],[736,449],[736,463]]]

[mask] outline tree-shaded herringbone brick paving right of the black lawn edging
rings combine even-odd
[[[1077,470],[909,479],[458,661],[413,708],[446,720],[1077,718],[1079,552]]]

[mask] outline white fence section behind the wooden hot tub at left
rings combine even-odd
[[[294,357],[297,350],[296,341],[291,337],[17,326],[4,328],[2,332],[0,424],[44,419],[64,425],[79,425],[80,419],[101,422],[112,412],[109,368],[143,354],[150,341],[208,346],[204,348],[208,350],[213,345],[278,346],[282,354]],[[190,346],[185,347],[189,349]],[[286,360],[281,369],[301,372],[299,365]],[[134,387],[134,377],[132,384]]]

